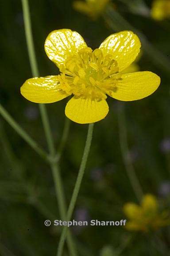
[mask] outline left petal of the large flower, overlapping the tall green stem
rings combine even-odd
[[[21,87],[21,94],[35,103],[52,103],[69,96],[60,88],[58,76],[28,79]]]

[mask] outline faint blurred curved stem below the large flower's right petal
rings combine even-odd
[[[129,156],[124,106],[121,106],[118,112],[118,125],[119,125],[120,148],[121,148],[122,157],[124,160],[125,169],[126,169],[128,178],[131,182],[131,186],[135,192],[135,195],[139,200],[139,202],[141,202],[141,199],[143,197],[143,191],[139,183],[139,180],[136,176],[133,164],[131,162],[131,157]]]

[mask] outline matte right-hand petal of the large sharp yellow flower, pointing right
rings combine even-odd
[[[123,101],[140,100],[155,92],[159,84],[160,77],[149,71],[122,74],[109,96]]]

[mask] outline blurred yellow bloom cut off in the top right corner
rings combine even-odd
[[[151,16],[155,20],[164,20],[170,17],[170,0],[154,0]]]

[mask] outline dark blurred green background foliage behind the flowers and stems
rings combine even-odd
[[[114,3],[122,16],[142,31],[165,56],[170,57],[170,21],[158,23],[149,17],[131,13],[123,1]],[[75,30],[93,49],[112,33],[102,18],[91,21],[74,11],[70,0],[30,0],[29,4],[41,76],[58,73],[44,51],[44,41],[52,30]],[[150,0],[146,4],[151,8]],[[0,24],[0,102],[46,148],[38,106],[25,100],[19,92],[23,82],[31,77],[19,0],[0,1]],[[147,55],[143,55],[139,65],[141,70],[161,76],[162,83],[150,97],[124,104],[131,159],[143,191],[155,194],[162,207],[169,207],[170,72],[168,74],[159,69]],[[62,100],[47,105],[56,146],[62,136],[66,102]],[[81,209],[77,218],[121,220],[125,218],[122,212],[124,203],[136,202],[120,152],[117,115],[121,103],[113,99],[109,99],[108,103],[108,116],[94,127],[93,144],[74,218]],[[77,177],[86,132],[87,125],[71,123],[61,159],[67,203]],[[46,219],[60,219],[50,167],[1,117],[0,148],[0,254],[55,255],[61,228],[44,225]],[[109,247],[105,251],[103,249],[102,256],[117,255],[115,253],[124,244],[122,256],[168,255],[168,247],[170,251],[169,228],[155,234],[136,233],[135,236],[123,227],[93,226],[72,228],[72,231],[82,256],[99,255],[106,246]],[[113,253],[111,248],[114,248]]]

